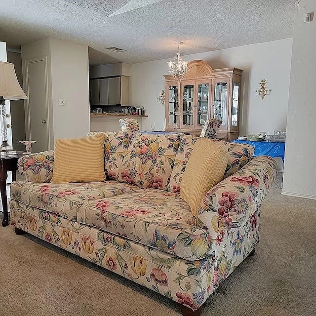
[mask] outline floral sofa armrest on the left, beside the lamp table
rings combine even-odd
[[[29,182],[50,182],[53,165],[54,151],[25,155],[18,159],[18,170]]]

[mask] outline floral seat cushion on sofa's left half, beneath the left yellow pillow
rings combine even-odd
[[[82,201],[113,197],[133,190],[140,189],[117,181],[72,184],[16,181],[11,184],[11,198],[75,221]]]

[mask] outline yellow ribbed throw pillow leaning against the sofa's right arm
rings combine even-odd
[[[205,194],[219,183],[227,167],[228,152],[207,138],[195,143],[180,185],[180,197],[194,216]]]

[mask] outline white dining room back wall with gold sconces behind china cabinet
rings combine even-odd
[[[181,52],[181,50],[180,50]],[[243,69],[242,119],[239,135],[285,130],[291,67],[292,39],[239,46],[212,52],[183,56],[184,60],[201,59],[213,69],[236,67]],[[176,46],[175,46],[176,53]],[[162,75],[167,75],[167,61],[158,60],[132,65],[130,79],[131,105],[144,106],[148,118],[143,119],[143,129],[149,130],[156,122],[157,129],[164,125],[164,107],[156,101],[159,91],[165,89]],[[261,79],[268,81],[271,95],[262,100],[255,96]]]

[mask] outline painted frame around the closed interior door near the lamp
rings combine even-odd
[[[45,86],[46,86],[46,113],[47,113],[47,150],[50,148],[50,115],[49,115],[49,98],[48,98],[48,74],[47,74],[47,56],[42,56],[42,57],[36,57],[36,58],[31,58],[31,59],[26,59],[25,60],[25,78],[26,78],[26,92],[27,95],[29,96],[29,77],[28,77],[28,64],[38,62],[38,61],[43,61],[44,66],[45,66]],[[27,138],[31,139],[31,122],[30,122],[30,117],[31,117],[31,112],[30,112],[30,99],[26,99],[26,112],[25,112],[25,132]]]

